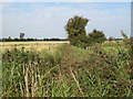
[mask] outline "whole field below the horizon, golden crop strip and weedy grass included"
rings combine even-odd
[[[1,97],[133,97],[131,47],[124,42],[89,50],[66,42],[3,45]]]

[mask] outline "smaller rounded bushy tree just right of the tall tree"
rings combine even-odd
[[[103,31],[93,30],[89,33],[89,41],[91,41],[91,43],[103,43],[106,41],[106,37]]]

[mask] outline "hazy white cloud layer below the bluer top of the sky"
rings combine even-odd
[[[38,8],[31,12],[3,13],[3,36],[19,36],[25,32],[29,37],[65,37],[64,25],[74,14],[83,15],[91,21],[86,30],[102,30],[108,36],[120,36],[120,30],[130,34],[130,11],[116,9],[112,14],[110,10],[74,9],[68,7]]]

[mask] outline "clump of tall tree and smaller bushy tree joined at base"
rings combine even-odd
[[[85,26],[89,20],[83,16],[74,15],[69,19],[65,31],[71,45],[86,48],[95,43],[103,43],[106,37],[102,31],[93,30],[86,35]]]

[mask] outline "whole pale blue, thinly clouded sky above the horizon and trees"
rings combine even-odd
[[[85,1],[85,0],[84,0]],[[0,36],[61,37],[65,38],[64,26],[74,15],[88,18],[86,33],[94,29],[106,37],[122,37],[121,30],[131,35],[130,2],[2,2]],[[1,9],[1,8],[0,8]]]

